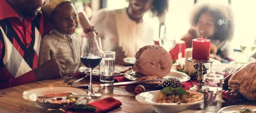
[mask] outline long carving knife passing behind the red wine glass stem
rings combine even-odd
[[[113,85],[124,85],[124,84],[137,84],[137,83],[148,83],[155,81],[163,81],[165,79],[156,79],[156,80],[142,80],[142,81],[131,81],[131,82],[121,82],[121,83],[105,83],[105,84],[93,84],[93,87],[103,87],[103,86],[113,86]],[[79,87],[83,89],[89,89],[89,85],[73,85],[72,87]]]

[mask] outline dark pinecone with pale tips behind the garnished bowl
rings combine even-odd
[[[176,77],[170,77],[166,80],[163,80],[163,83],[158,84],[154,90],[161,90],[165,87],[169,87],[171,86],[172,88],[178,88],[178,87],[182,87],[182,83],[179,79],[177,79]]]

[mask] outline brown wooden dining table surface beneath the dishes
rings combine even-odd
[[[24,91],[31,90],[34,88],[45,87],[45,85],[57,85],[65,86],[64,78],[68,76],[62,76],[58,79],[53,80],[42,80],[34,83],[19,85],[12,88],[6,88],[0,90],[0,113],[47,113],[47,108],[38,107],[33,102],[23,99],[22,94]],[[79,78],[74,78],[77,80]],[[93,84],[99,84],[99,80],[93,80]],[[89,84],[88,79],[81,80],[77,83],[79,84]],[[134,86],[105,86],[105,87],[95,87],[93,91],[102,94],[100,98],[97,99],[82,99],[79,103],[90,103],[99,101],[106,97],[113,97],[122,102],[122,105],[109,113],[155,113],[154,108],[151,105],[144,105],[136,101],[135,96],[137,95],[134,91]],[[252,102],[237,102],[229,103],[222,102],[222,107],[231,105],[256,105]]]

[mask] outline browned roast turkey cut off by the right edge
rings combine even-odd
[[[256,100],[256,61],[247,63],[224,79],[224,88],[240,93],[247,100]]]

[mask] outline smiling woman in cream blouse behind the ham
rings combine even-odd
[[[91,23],[102,38],[104,51],[116,52],[116,64],[125,63],[125,57],[135,57],[136,52],[153,44],[154,30],[143,21],[143,15],[151,10],[154,16],[162,16],[169,0],[128,0],[128,8],[101,9],[93,15]]]

